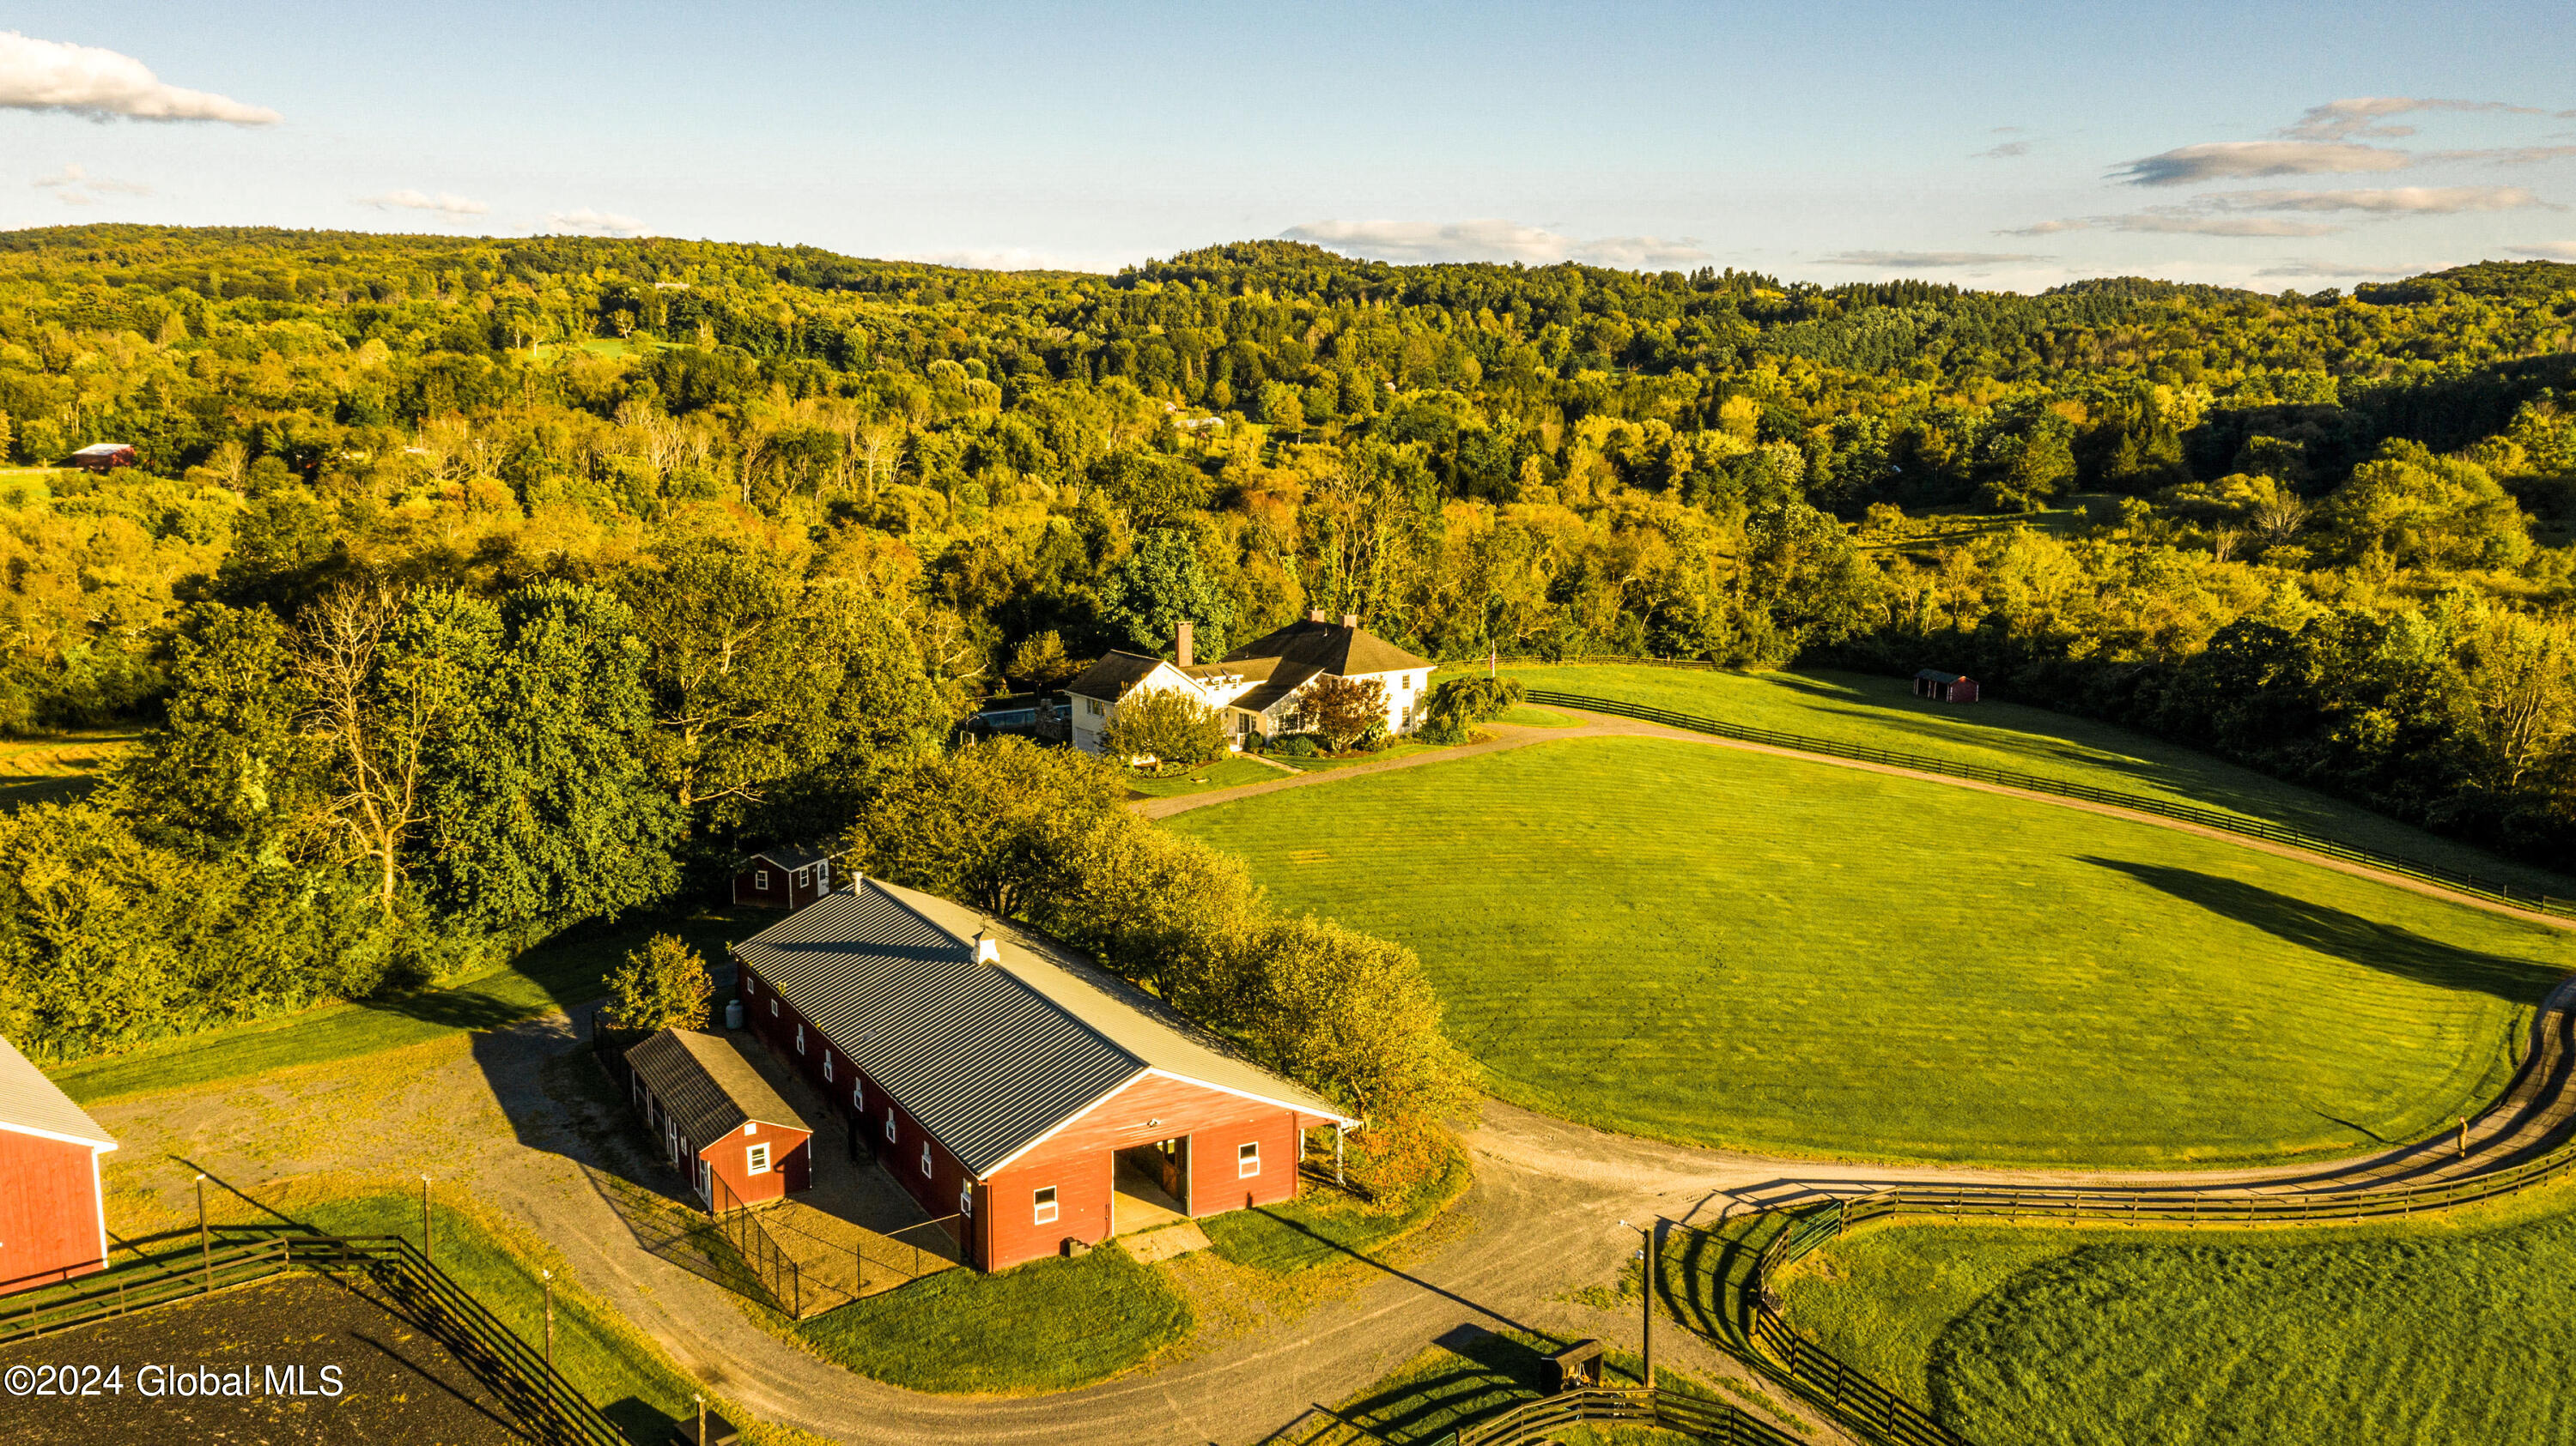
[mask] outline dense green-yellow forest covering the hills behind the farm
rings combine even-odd
[[[2571,373],[2555,262],[2009,296],[8,232],[0,728],[157,733],[5,826],[0,1032],[644,908],[927,787],[981,695],[1306,607],[1437,659],[1953,666],[2563,865]],[[139,466],[52,466],[100,440]]]

